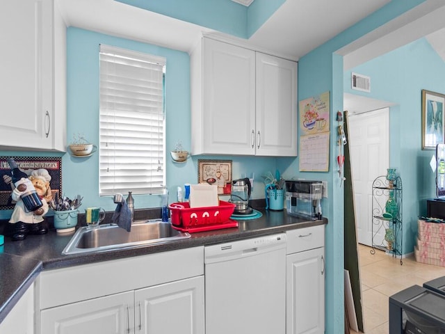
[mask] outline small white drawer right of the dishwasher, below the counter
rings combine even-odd
[[[325,246],[325,225],[286,231],[286,254]]]

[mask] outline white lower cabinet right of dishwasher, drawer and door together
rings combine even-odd
[[[325,333],[324,229],[287,232],[286,334]]]

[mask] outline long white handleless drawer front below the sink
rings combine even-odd
[[[204,274],[204,246],[43,271],[40,310]]]

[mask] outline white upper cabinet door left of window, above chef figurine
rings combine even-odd
[[[0,146],[51,148],[51,0],[1,7]]]

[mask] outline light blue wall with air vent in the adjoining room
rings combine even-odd
[[[350,73],[371,77],[371,93],[350,88]],[[421,38],[344,73],[345,93],[394,102],[390,111],[389,165],[403,183],[403,253],[416,244],[417,217],[426,214],[426,199],[435,197],[434,150],[421,150],[421,90],[445,93],[445,63]]]

